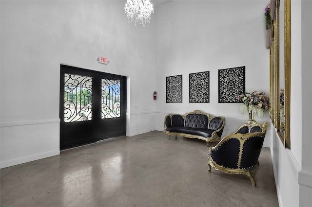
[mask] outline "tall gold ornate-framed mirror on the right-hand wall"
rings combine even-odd
[[[273,20],[270,46],[270,118],[284,147],[290,148],[291,0],[271,0],[271,9],[274,11],[270,13]],[[283,31],[280,30],[280,25],[284,25]],[[283,45],[280,45],[280,39],[284,40]]]

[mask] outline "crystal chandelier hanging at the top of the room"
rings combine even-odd
[[[127,0],[125,13],[128,17],[128,23],[134,21],[135,25],[139,23],[143,24],[144,27],[146,22],[150,23],[152,12],[154,13],[154,8],[150,0]]]

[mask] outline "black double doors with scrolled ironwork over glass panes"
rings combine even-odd
[[[126,77],[60,65],[60,150],[126,135]]]

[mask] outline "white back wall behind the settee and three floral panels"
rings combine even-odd
[[[157,13],[156,129],[168,113],[200,109],[226,118],[222,137],[248,119],[240,104],[218,103],[218,69],[245,66],[245,89],[270,91],[270,51],[265,48],[266,1],[170,1]],[[210,71],[210,103],[189,103],[189,74]],[[166,77],[182,74],[182,104],[166,104]],[[255,119],[269,121],[269,113]],[[270,135],[264,146],[270,146]]]

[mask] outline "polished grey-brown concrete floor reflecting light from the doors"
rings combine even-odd
[[[210,147],[216,143],[210,143]],[[207,171],[206,142],[153,131],[1,169],[1,207],[278,207],[270,150],[245,175]]]

